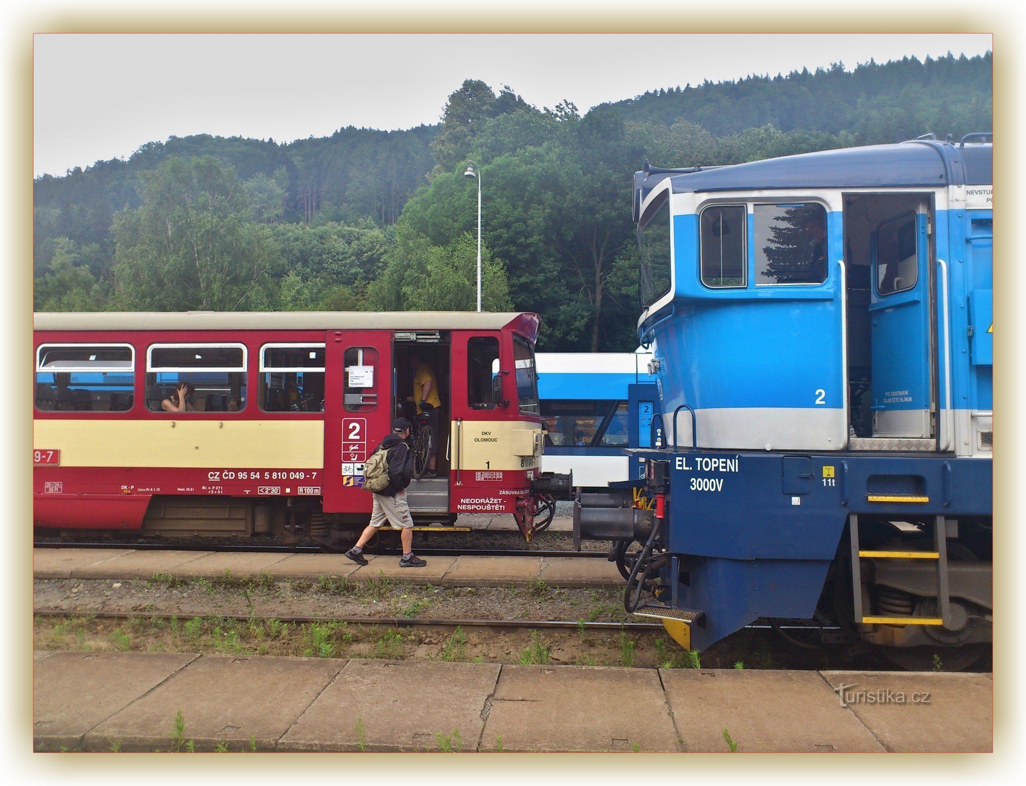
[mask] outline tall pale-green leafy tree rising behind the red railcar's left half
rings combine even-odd
[[[231,167],[171,158],[140,174],[143,205],[114,220],[114,276],[126,307],[244,311],[263,300],[275,250]]]

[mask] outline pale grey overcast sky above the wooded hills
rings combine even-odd
[[[437,123],[465,79],[536,107],[843,63],[981,54],[991,36],[37,34],[34,173],[209,133],[291,141]],[[639,68],[642,55],[658,66]]]

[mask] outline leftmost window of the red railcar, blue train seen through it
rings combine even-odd
[[[36,353],[36,409],[125,412],[135,385],[129,344],[42,344]]]

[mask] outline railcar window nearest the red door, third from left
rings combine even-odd
[[[265,412],[323,412],[324,344],[261,347],[260,407]]]

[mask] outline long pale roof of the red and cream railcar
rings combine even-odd
[[[35,330],[538,330],[530,312],[36,313]],[[531,325],[534,331],[530,330]],[[531,336],[534,338],[534,336]]]

